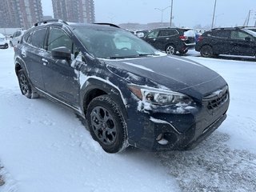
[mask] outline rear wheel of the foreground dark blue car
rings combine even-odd
[[[24,70],[18,71],[18,84],[22,94],[25,95],[26,98],[39,97],[39,95],[32,90],[30,82],[28,81],[28,78],[26,77]]]

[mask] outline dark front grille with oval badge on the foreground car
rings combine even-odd
[[[228,98],[229,91],[227,86],[225,86],[221,90],[214,91],[214,93],[207,95],[202,101],[206,104],[207,110],[215,110],[218,109],[222,103],[226,102]]]

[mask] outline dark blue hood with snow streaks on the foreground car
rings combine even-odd
[[[225,86],[214,70],[178,56],[105,60],[109,70],[131,83],[205,95]],[[187,94],[187,93],[186,93]]]

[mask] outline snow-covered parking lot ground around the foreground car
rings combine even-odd
[[[106,154],[71,110],[18,88],[0,50],[0,191],[256,191],[256,62],[193,59],[230,85],[222,126],[194,150]],[[203,75],[203,74],[202,74]],[[1,178],[5,182],[1,186]]]

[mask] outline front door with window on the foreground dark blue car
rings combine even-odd
[[[55,59],[51,54],[51,50],[60,46],[68,48],[73,55],[78,53],[74,42],[62,28],[50,27],[49,37],[46,41],[47,52],[42,58],[45,90],[47,94],[66,104],[78,106],[80,90],[78,71],[70,66],[71,61]]]

